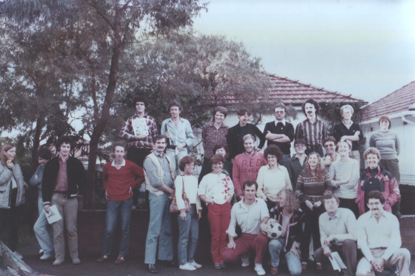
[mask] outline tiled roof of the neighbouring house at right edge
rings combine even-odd
[[[365,120],[408,110],[415,103],[415,81],[365,107]]]

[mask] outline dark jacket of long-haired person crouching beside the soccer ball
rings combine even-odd
[[[283,208],[271,208],[269,211],[271,218],[283,225]],[[284,245],[284,252],[290,251],[294,242],[301,243],[303,239],[303,220],[305,213],[299,209],[291,213],[288,230],[286,232],[286,243]]]

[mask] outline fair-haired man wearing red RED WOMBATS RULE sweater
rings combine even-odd
[[[268,164],[264,154],[255,150],[254,136],[247,134],[243,140],[245,152],[235,156],[232,168],[232,181],[238,201],[245,196],[242,184],[247,180],[256,181],[259,169]]]

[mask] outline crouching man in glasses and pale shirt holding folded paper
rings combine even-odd
[[[327,212],[322,213],[318,220],[321,247],[314,252],[313,257],[321,264],[325,257],[332,258],[332,252],[339,252],[347,266],[344,275],[353,276],[357,253],[356,217],[351,210],[339,208],[337,195],[324,195],[323,203]],[[317,269],[321,268],[321,265],[317,266]]]

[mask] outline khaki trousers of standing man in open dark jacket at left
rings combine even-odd
[[[76,232],[76,217],[78,215],[78,199],[66,199],[66,195],[55,193],[51,205],[56,205],[62,220],[52,224],[54,232],[55,258],[65,259],[65,238],[63,237],[63,222],[68,231],[68,247],[71,259],[78,257],[78,234]]]

